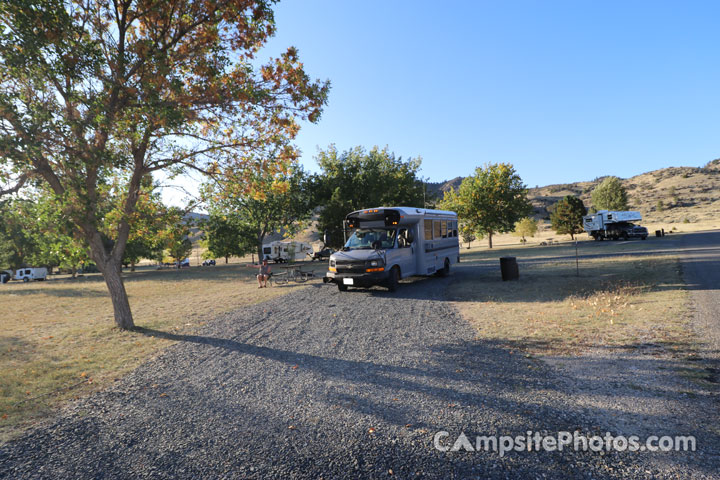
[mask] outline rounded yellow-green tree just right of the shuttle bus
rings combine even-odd
[[[515,222],[532,212],[527,187],[507,163],[476,168],[457,191],[445,192],[440,207],[457,212],[472,231],[486,235],[490,248],[494,234],[512,232]]]

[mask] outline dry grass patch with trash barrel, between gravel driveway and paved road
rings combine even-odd
[[[520,280],[468,271],[456,276],[453,300],[483,339],[531,353],[579,353],[592,346],[691,343],[687,292],[667,237],[646,242],[581,244],[577,276],[571,245],[463,250],[463,263],[497,266],[516,256]],[[623,255],[642,247],[645,255]],[[603,257],[599,253],[617,256]],[[497,267],[496,267],[497,268]],[[471,269],[470,269],[471,270]]]

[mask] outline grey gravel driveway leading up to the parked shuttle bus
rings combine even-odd
[[[218,318],[0,448],[7,478],[655,478],[641,454],[440,452],[455,439],[602,433],[550,367],[476,340],[449,279],[314,284]],[[452,441],[450,441],[451,443]],[[645,454],[647,455],[647,454]],[[668,467],[678,478],[682,469]],[[695,476],[712,478],[699,469]],[[674,474],[672,474],[674,476]]]

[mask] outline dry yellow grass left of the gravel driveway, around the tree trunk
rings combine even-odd
[[[322,270],[317,263],[314,268]],[[258,289],[255,273],[242,264],[148,268],[127,274],[125,285],[138,327],[184,333],[299,285]],[[172,343],[115,328],[99,275],[0,285],[0,306],[0,441],[46,418],[64,401],[101,389]]]

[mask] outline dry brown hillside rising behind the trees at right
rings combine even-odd
[[[592,181],[530,188],[528,197],[535,217],[547,219],[549,208],[565,195],[576,195],[590,207],[590,193],[603,178]],[[428,183],[428,192],[442,198],[443,192],[457,188],[462,177],[447,182]],[[720,159],[701,168],[670,167],[622,179],[630,209],[642,213],[650,222],[695,223],[720,218]]]

